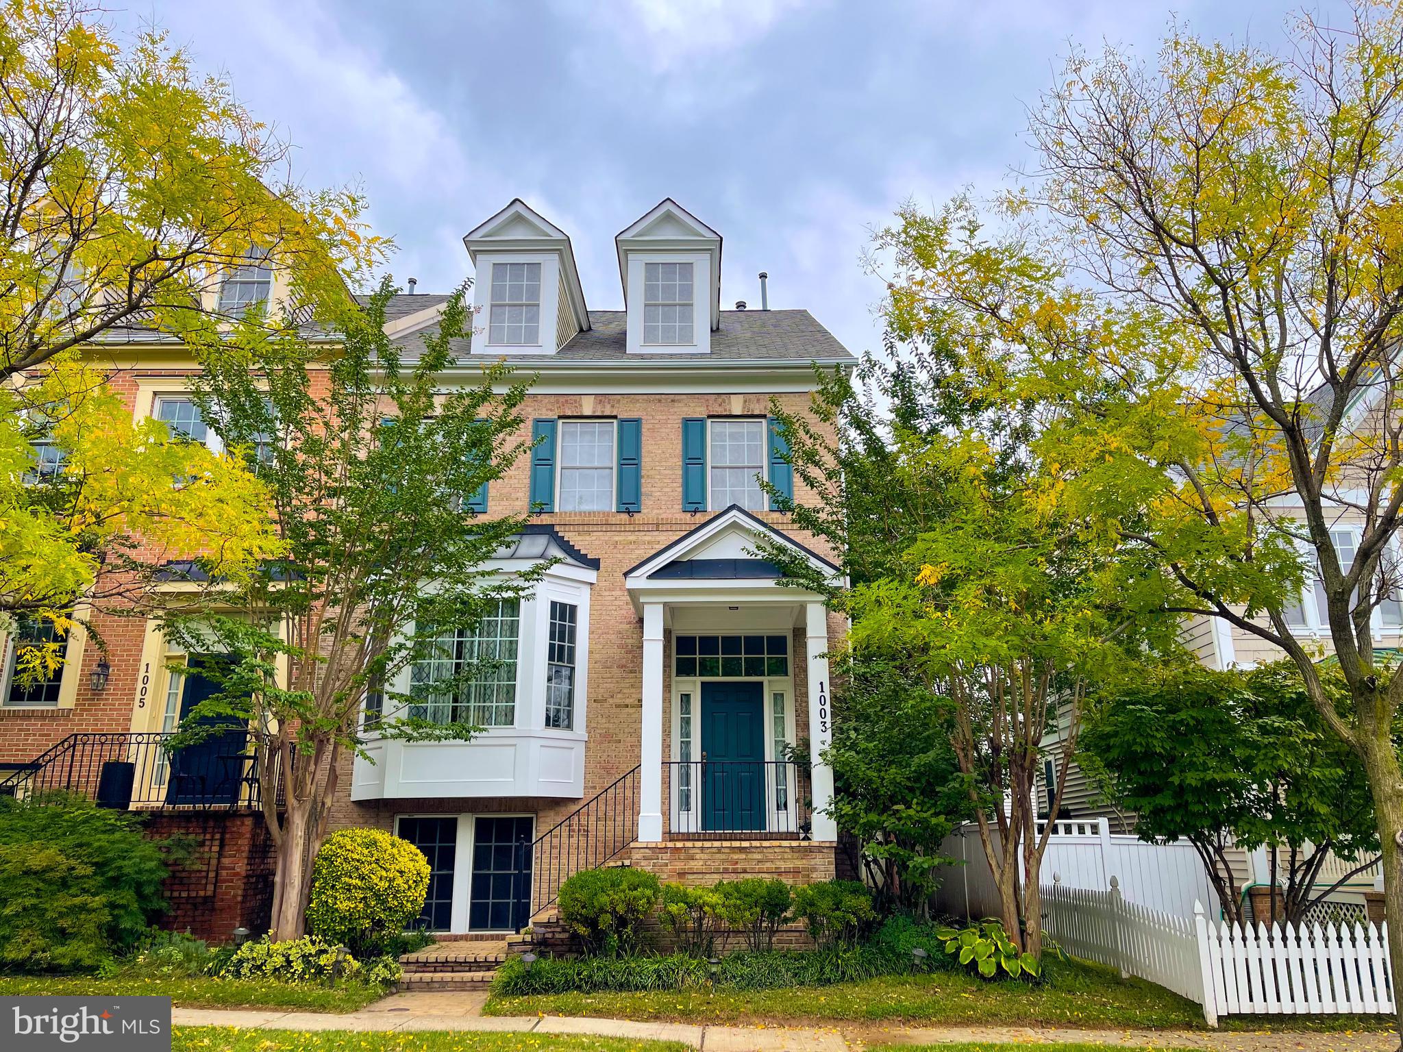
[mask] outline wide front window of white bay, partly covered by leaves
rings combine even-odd
[[[471,628],[436,637],[410,670],[410,714],[435,724],[512,727],[521,602],[501,599]]]

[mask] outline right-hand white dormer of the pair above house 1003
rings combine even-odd
[[[666,198],[615,244],[629,353],[709,353],[721,324],[721,236]]]

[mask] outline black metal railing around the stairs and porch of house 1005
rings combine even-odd
[[[70,734],[0,780],[0,795],[77,793],[119,809],[262,807],[258,763],[241,728],[170,748],[173,734]],[[278,780],[281,798],[282,783]]]

